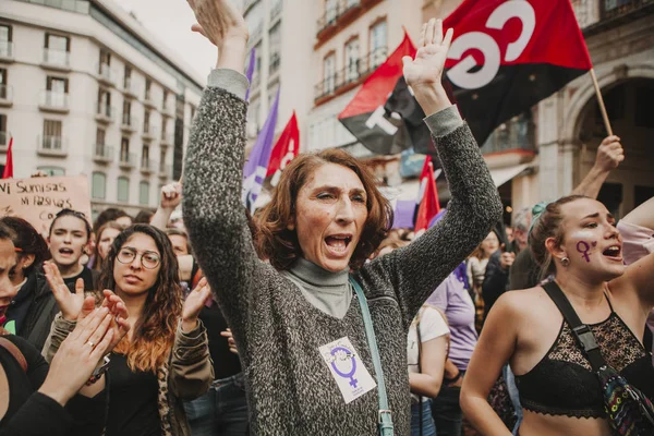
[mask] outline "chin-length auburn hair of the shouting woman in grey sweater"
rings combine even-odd
[[[338,148],[299,155],[281,173],[270,203],[255,217],[258,231],[255,240],[257,253],[261,258],[269,259],[278,270],[290,268],[302,256],[298,234],[295,230],[289,230],[288,226],[295,214],[298,193],[316,169],[326,164],[340,165],[354,171],[367,194],[368,215],[359,245],[350,259],[352,269],[364,264],[392,226],[392,207],[375,185],[374,175],[361,161]]]

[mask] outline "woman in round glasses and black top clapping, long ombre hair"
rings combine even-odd
[[[61,307],[44,350],[50,360],[75,326],[83,289],[69,292],[55,265],[46,263],[45,269]],[[206,330],[198,320],[210,296],[206,281],[182,305],[168,237],[149,225],[133,225],[113,241],[99,286],[123,299],[132,326],[109,356],[105,435],[190,436],[182,400],[199,397],[214,380]],[[105,388],[102,380],[96,385]]]

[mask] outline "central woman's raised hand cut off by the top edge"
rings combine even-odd
[[[218,48],[232,38],[247,41],[245,20],[230,0],[189,0],[189,4],[197,20],[191,29],[204,35]]]

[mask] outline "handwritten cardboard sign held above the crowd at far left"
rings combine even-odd
[[[61,209],[86,215],[90,223],[90,197],[86,175],[0,180],[0,217],[23,218],[41,234]]]

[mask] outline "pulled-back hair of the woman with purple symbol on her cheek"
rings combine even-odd
[[[541,280],[550,274],[556,274],[556,264],[554,263],[552,253],[545,246],[545,241],[548,238],[554,238],[556,246],[560,246],[564,243],[564,232],[561,230],[564,214],[561,214],[561,206],[582,198],[590,197],[585,195],[560,197],[556,202],[545,206],[545,210],[534,219],[529,231],[529,247],[534,255],[534,261],[541,267]]]

